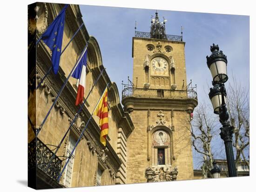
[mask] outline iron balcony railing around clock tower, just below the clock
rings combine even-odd
[[[157,89],[141,89],[135,87],[127,87],[122,90],[122,98],[128,96],[147,97],[147,98],[171,98],[171,99],[186,99],[193,98],[197,100],[195,90],[157,90]]]

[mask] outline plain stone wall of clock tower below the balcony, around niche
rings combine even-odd
[[[159,110],[150,110],[150,136],[148,141],[147,136],[147,113],[148,110],[134,110],[131,113],[132,121],[135,129],[128,137],[127,141],[127,183],[143,183],[147,182],[145,171],[148,166],[155,166],[155,159],[152,155],[152,146],[154,128],[158,127],[160,130],[169,130],[173,141],[171,142],[171,149],[168,149],[171,154],[171,170],[177,167],[177,180],[193,179],[193,159],[192,148],[190,142],[190,132],[187,128],[189,123],[189,114],[186,111],[174,111],[174,122],[172,128],[171,111],[163,110],[164,117],[162,123],[157,116]],[[157,123],[158,121],[158,123]],[[172,130],[173,129],[173,130]],[[148,160],[148,142],[149,142],[149,160]],[[165,154],[168,155],[168,154]],[[166,163],[167,164],[167,163]],[[159,166],[160,167],[160,166]]]

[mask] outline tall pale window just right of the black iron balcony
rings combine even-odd
[[[66,156],[68,157],[72,150],[74,149],[74,146],[76,144],[76,140],[72,134],[69,135],[68,144],[67,144],[67,152]],[[67,187],[71,187],[71,181],[72,181],[72,173],[73,173],[73,166],[74,166],[74,153],[72,154],[66,168],[65,168],[65,174],[64,174],[64,185]]]

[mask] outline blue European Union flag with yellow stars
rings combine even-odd
[[[61,58],[61,46],[64,31],[65,22],[65,11],[68,5],[65,5],[61,10],[59,15],[54,19],[47,30],[42,34],[42,41],[50,48],[52,51],[52,64],[54,74],[57,74],[60,65]]]

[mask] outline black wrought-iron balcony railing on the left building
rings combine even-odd
[[[40,139],[34,139],[28,144],[28,169],[33,169],[36,166],[52,179],[57,180],[61,173],[61,160],[55,156],[49,168],[47,165],[53,156],[50,150]]]

